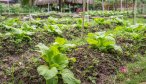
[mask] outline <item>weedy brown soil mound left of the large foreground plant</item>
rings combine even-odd
[[[43,61],[38,60],[39,53],[26,51],[22,55],[0,57],[0,82],[3,84],[45,84],[37,72]]]

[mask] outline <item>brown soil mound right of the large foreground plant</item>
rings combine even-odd
[[[112,84],[109,77],[116,75],[116,70],[122,66],[118,55],[102,53],[88,45],[78,47],[68,56],[76,58],[77,61],[70,66],[84,84]]]

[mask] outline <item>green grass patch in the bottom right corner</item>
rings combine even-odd
[[[130,63],[127,74],[118,74],[123,84],[140,84],[146,82],[146,57],[139,57],[139,61]]]

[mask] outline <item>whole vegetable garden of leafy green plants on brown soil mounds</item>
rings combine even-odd
[[[84,20],[82,13],[0,16],[0,83],[145,84],[145,18],[133,24],[131,16],[132,11],[88,11]]]

